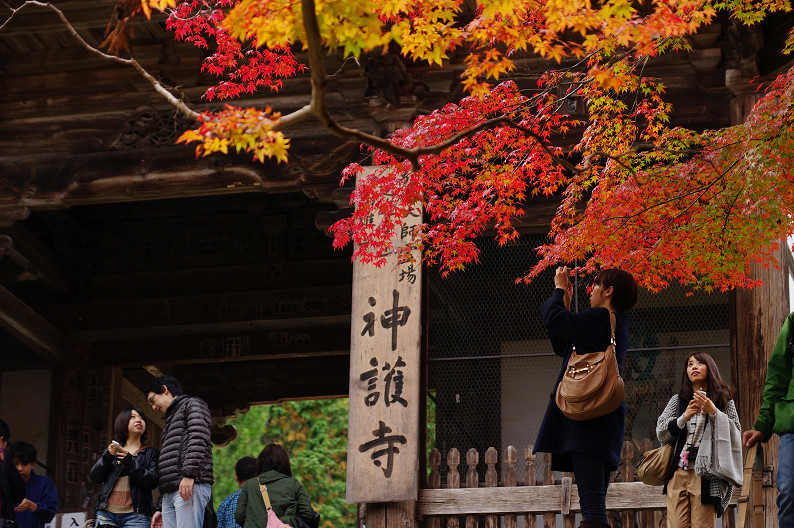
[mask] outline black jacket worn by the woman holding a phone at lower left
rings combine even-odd
[[[153,447],[143,447],[137,456],[127,455],[116,463],[116,457],[105,449],[99,460],[88,473],[91,482],[102,484],[102,492],[97,497],[96,509],[104,510],[108,505],[108,497],[113,491],[113,486],[120,476],[130,477],[130,494],[132,495],[132,508],[137,513],[151,516],[154,513],[152,504],[152,490],[157,487],[159,475],[157,473],[157,460],[160,452]]]

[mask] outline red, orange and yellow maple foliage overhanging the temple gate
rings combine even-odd
[[[719,14],[755,23],[790,1],[483,0],[473,10],[462,0],[143,2],[170,12],[178,39],[212,51],[204,69],[220,80],[209,100],[278,90],[309,68],[305,108],[282,116],[226,106],[202,114],[182,140],[204,155],[235,149],[286,161],[282,129],[315,116],[365,144],[377,170],[359,179],[353,216],[332,228],[335,245],[354,243],[364,262],[383,263],[416,203],[425,223],[412,247],[449,273],[477,260],[474,240],[486,229],[513,241],[527,197],[561,200],[525,280],[577,261],[588,272],[630,269],[650,289],[753,286],[750,263],[769,264],[794,231],[794,72],[759,83],[766,95],[745,124],[706,132],[671,127],[664,86],[643,75],[654,57],[686,51],[686,37]],[[465,51],[467,96],[388,139],[338,125],[324,106],[324,54],[395,44],[439,66]],[[305,66],[292,54],[298,47]],[[509,78],[526,56],[549,64],[531,91]],[[571,99],[585,115],[564,111]],[[360,172],[349,167],[343,181]]]

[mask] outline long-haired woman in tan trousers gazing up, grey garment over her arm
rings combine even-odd
[[[659,441],[674,445],[673,464],[663,490],[667,495],[668,528],[713,527],[728,505],[733,492],[730,482],[698,476],[708,472],[710,462],[698,457],[698,452],[704,442],[713,445],[711,434],[718,421],[726,427],[735,426],[739,438],[741,427],[730,388],[722,381],[714,359],[705,352],[695,352],[686,359],[681,390],[670,398],[656,421]],[[732,448],[738,449],[741,471],[741,441]],[[735,455],[720,453],[724,460]]]

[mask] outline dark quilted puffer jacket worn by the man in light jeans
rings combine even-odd
[[[212,416],[201,398],[181,394],[165,412],[163,450],[160,453],[160,492],[179,489],[183,477],[196,484],[212,484]]]

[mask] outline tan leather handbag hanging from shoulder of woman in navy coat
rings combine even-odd
[[[623,378],[615,355],[615,315],[609,313],[612,339],[603,352],[577,354],[573,348],[555,401],[571,420],[583,421],[609,414],[623,401]]]

